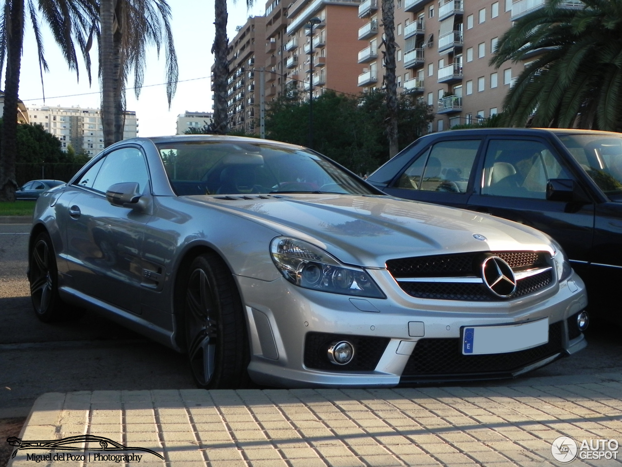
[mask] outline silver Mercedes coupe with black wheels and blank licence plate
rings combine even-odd
[[[586,345],[583,281],[547,235],[262,139],[109,146],[40,196],[28,277],[42,321],[95,309],[205,388],[513,377]]]

